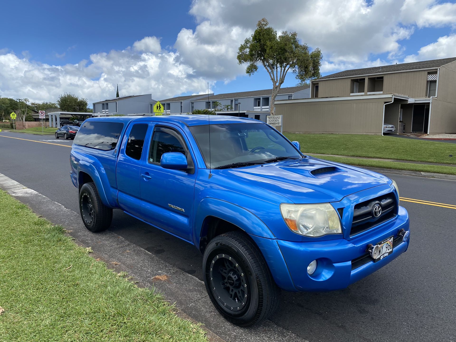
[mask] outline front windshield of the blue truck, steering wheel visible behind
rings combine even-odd
[[[266,124],[211,124],[213,169],[265,164],[302,155],[277,131]],[[209,167],[209,125],[190,127]]]

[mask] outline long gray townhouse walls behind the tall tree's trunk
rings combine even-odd
[[[253,90],[238,93],[224,93],[210,95],[207,98],[205,95],[199,99],[191,101],[191,112],[194,109],[220,109],[233,111],[269,111],[269,103],[271,101],[272,89]],[[280,88],[275,100],[291,100],[297,98],[309,98],[310,87],[285,87]],[[216,108],[216,102],[220,105]]]

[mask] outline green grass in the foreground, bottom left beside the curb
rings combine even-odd
[[[1,341],[206,341],[160,295],[1,190],[0,208]]]

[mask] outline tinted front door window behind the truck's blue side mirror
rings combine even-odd
[[[166,152],[181,152],[185,155],[185,150],[177,137],[173,130],[156,128],[150,146],[149,162],[160,163],[161,155]]]

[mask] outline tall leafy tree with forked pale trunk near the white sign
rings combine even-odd
[[[257,28],[246,38],[238,50],[238,63],[247,63],[245,72],[251,76],[261,64],[272,81],[272,96],[269,104],[270,114],[274,114],[275,97],[285,81],[288,71],[301,82],[320,77],[321,51],[316,48],[310,52],[307,44],[300,44],[296,32],[277,31],[269,26],[266,19],[258,21]]]

